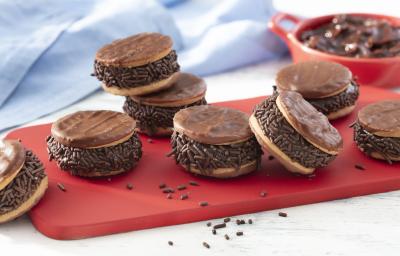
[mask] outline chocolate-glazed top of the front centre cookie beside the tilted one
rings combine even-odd
[[[180,110],[174,129],[205,144],[232,144],[251,138],[249,116],[239,110],[202,105]]]

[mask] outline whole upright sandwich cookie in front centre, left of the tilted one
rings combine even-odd
[[[248,120],[241,111],[217,106],[182,109],[174,117],[170,155],[194,174],[230,178],[250,173],[262,151]]]

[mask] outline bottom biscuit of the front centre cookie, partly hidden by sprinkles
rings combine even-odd
[[[257,169],[257,160],[254,160],[250,163],[241,165],[239,169],[236,169],[234,167],[217,168],[217,169],[209,171],[209,173],[202,172],[201,170],[195,168],[193,165],[190,166],[190,170],[188,169],[187,166],[183,166],[183,168],[185,168],[185,170],[188,172],[202,175],[202,176],[214,177],[214,178],[219,178],[219,179],[228,179],[228,178],[234,178],[234,177],[238,177],[241,175],[245,175],[245,174],[255,171]]]

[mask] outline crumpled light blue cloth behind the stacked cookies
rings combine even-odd
[[[267,0],[0,0],[0,131],[99,89],[96,50],[139,32],[171,36],[182,70],[198,75],[279,57],[272,13]]]

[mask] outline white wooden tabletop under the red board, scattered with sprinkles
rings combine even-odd
[[[270,94],[274,61],[205,78],[209,102]],[[121,110],[122,97],[98,92],[31,124],[51,122],[84,109]],[[2,134],[4,135],[4,134]],[[400,170],[399,170],[400,171]],[[73,210],[73,209],[71,209]],[[287,218],[278,216],[288,213]],[[3,255],[400,255],[400,191],[239,216],[253,219],[214,236],[206,221],[77,241],[56,241],[34,229],[25,216],[0,226]],[[229,234],[231,240],[224,239]],[[168,241],[174,242],[169,246]],[[206,249],[206,241],[211,248]]]

